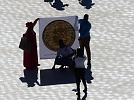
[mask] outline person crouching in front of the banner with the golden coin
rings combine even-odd
[[[65,45],[63,40],[59,40],[59,49],[57,51],[57,56],[55,58],[52,70],[55,69],[55,65],[61,65],[59,69],[63,69],[64,66],[69,66],[72,63],[72,56],[74,52],[71,46]]]

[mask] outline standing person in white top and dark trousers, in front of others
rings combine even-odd
[[[76,95],[80,95],[80,80],[82,80],[83,85],[84,85],[84,90],[83,92],[87,92],[87,84],[85,80],[85,65],[84,62],[86,60],[86,56],[84,56],[84,51],[80,48],[77,49],[76,51],[76,56],[74,57],[74,62],[75,62],[75,68],[74,68],[74,75],[76,78],[76,86],[78,92]]]

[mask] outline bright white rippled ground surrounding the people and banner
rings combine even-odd
[[[41,66],[38,69],[37,80],[41,83],[48,78],[51,84],[35,84],[28,87],[26,82],[22,82],[20,78],[24,77],[23,52],[18,45],[26,31],[27,21],[33,21],[38,17],[68,15],[78,15],[82,18],[85,13],[89,14],[92,24],[91,52],[94,77],[92,83],[88,84],[85,100],[134,100],[134,1],[93,0],[95,5],[91,9],[85,9],[77,0],[62,2],[69,6],[59,11],[43,0],[0,0],[0,100],[79,99],[72,91],[76,88],[75,83],[60,78],[65,73],[48,70],[53,65],[53,59],[39,60]],[[38,24],[35,31],[39,42]],[[61,83],[53,84],[58,81],[56,79]],[[81,92],[80,98],[84,98],[84,93]]]

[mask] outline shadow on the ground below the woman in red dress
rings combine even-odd
[[[39,82],[37,81],[38,79],[38,68],[34,70],[23,70],[24,72],[24,77],[20,77],[19,79],[21,82],[27,83],[28,87],[33,87],[35,86],[35,83],[39,85]]]

